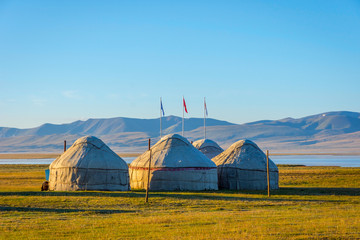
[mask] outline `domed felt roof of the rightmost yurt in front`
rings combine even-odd
[[[264,170],[265,153],[252,141],[240,140],[212,159],[217,166],[248,170]],[[269,159],[270,171],[278,171],[277,166]]]

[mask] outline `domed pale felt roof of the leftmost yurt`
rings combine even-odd
[[[128,169],[126,162],[94,136],[79,138],[56,158],[52,168]]]

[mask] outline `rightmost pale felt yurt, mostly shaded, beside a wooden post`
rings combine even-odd
[[[266,155],[250,140],[240,140],[212,159],[218,168],[219,188],[267,189]],[[270,188],[279,188],[279,170],[269,159]]]

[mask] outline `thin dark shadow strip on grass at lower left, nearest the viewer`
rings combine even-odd
[[[113,214],[113,213],[130,213],[132,210],[111,210],[111,209],[62,209],[62,208],[36,208],[36,207],[5,207],[0,206],[0,211],[17,211],[17,212],[54,212],[54,213],[72,213],[86,212],[96,214]]]

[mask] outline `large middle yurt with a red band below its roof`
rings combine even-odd
[[[147,186],[150,152],[150,190],[218,189],[215,163],[178,134],[163,137],[130,164],[132,189]]]

